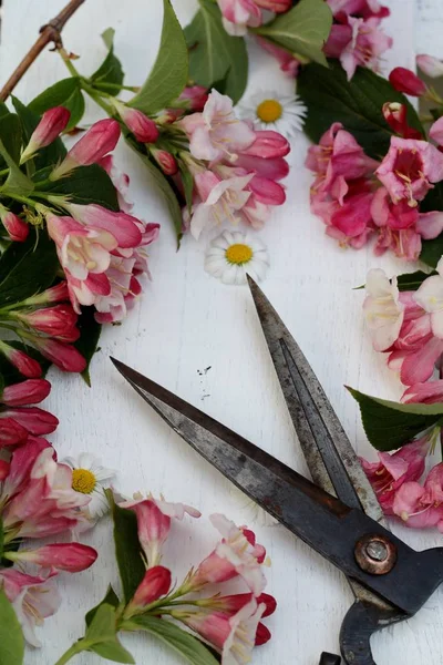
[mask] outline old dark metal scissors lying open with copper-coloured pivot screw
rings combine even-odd
[[[347,665],[375,665],[375,631],[413,616],[443,582],[443,548],[393,535],[323,389],[257,284],[257,314],[312,482],[158,383],[112,358],[131,386],[226,478],[348,577],[356,601],[340,630]],[[320,665],[340,665],[322,653]]]

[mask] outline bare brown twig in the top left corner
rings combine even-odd
[[[3,88],[0,90],[0,100],[4,102],[18,82],[22,79],[22,76],[27,73],[31,64],[34,60],[40,55],[43,51],[44,47],[49,43],[53,42],[55,49],[62,48],[62,38],[61,32],[70,20],[70,18],[76,12],[79,7],[83,4],[85,0],[71,0],[64,9],[54,18],[52,21],[49,21],[45,25],[40,28],[40,37],[31,48],[31,50],[25,54],[23,60],[20,62],[17,70],[13,72],[11,78],[6,82]]]

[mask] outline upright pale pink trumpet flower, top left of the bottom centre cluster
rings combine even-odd
[[[155,499],[136,499],[121,503],[122,508],[133,510],[137,516],[138,540],[150,569],[158,565],[162,546],[171,531],[172,518],[183,520],[185,513],[199,518],[200,513],[183,503],[167,503]]]

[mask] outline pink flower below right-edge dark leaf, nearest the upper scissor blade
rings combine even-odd
[[[393,454],[379,452],[378,462],[368,462],[360,458],[364,472],[387,515],[395,514],[394,501],[400,488],[404,483],[419,480],[423,475],[429,449],[430,440],[426,436],[403,446]]]

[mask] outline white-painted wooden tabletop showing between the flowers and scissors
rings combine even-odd
[[[64,0],[4,0],[3,4],[1,82]],[[414,44],[418,52],[443,57],[440,0],[385,0],[385,4],[392,10],[387,29],[394,37],[387,71],[398,64],[413,66]],[[66,27],[65,45],[81,54],[80,69],[92,72],[104,53],[100,33],[114,27],[127,82],[140,84],[156,54],[161,6],[159,0],[89,0]],[[175,0],[174,6],[186,23],[196,2]],[[250,89],[266,88],[267,80],[274,84],[278,68],[262,53],[254,53],[257,64]],[[45,52],[16,94],[30,101],[63,76],[58,57]],[[282,79],[281,86],[290,88],[290,83]],[[89,121],[99,116],[95,109],[89,109]],[[377,259],[371,249],[343,252],[323,235],[321,222],[309,212],[311,176],[303,168],[307,145],[301,135],[293,141],[288,202],[261,233],[271,256],[264,289],[296,335],[358,452],[373,456],[357,405],[343,385],[388,398],[398,398],[401,387],[371,349],[362,325],[362,293],[352,287],[364,282],[370,267],[394,274],[405,266],[392,257]],[[176,254],[167,213],[137,158],[122,145],[119,161],[131,174],[136,213],[162,223],[161,239],[151,252],[154,280],[124,325],[105,330],[102,350],[92,364],[91,390],[80,378],[51,372],[48,407],[61,420],[52,440],[61,457],[84,450],[100,456],[104,466],[119,470],[117,487],[125,493],[163,492],[169,500],[202,509],[199,522],[187,521],[175,529],[176,553],[172,542],[165,563],[176,575],[196,564],[216,542],[207,519],[212,512],[225,512],[238,523],[250,523],[253,518],[251,525],[272,560],[268,591],[279,603],[278,612],[267,621],[274,638],[255,652],[254,662],[317,665],[322,649],[338,651],[340,623],[351,603],[343,576],[285,529],[255,519],[246,499],[136,398],[107,359],[112,354],[137,367],[306,471],[247,288],[224,286],[204,273],[205,241],[197,244],[186,237]],[[208,366],[210,370],[202,376]],[[433,533],[394,529],[416,549],[442,544],[442,538]],[[82,634],[85,610],[100,601],[109,582],[116,581],[110,523],[100,524],[86,540],[100,550],[100,562],[74,577],[60,575],[62,607],[40,632],[43,651],[29,651],[27,665],[53,664]],[[437,592],[414,620],[375,636],[375,661],[380,665],[441,664],[442,631],[443,593]],[[182,663],[144,636],[124,637],[124,643],[140,664]],[[83,655],[74,662],[93,665],[102,661]]]

